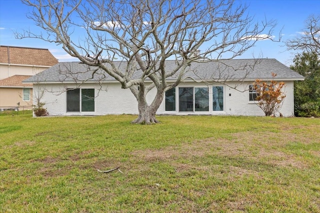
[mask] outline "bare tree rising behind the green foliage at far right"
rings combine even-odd
[[[310,15],[299,36],[285,42],[287,49],[315,52],[320,57],[320,14]]]

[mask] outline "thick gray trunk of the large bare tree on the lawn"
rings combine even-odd
[[[145,97],[140,96],[138,100],[138,117],[131,121],[132,124],[156,124],[160,123],[155,118],[156,110],[163,100],[163,92],[157,92],[150,105],[147,104]]]

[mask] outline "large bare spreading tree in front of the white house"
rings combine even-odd
[[[164,92],[194,71],[192,62],[234,58],[257,40],[272,39],[274,21],[254,23],[234,0],[22,0],[45,30],[16,33],[62,44],[82,63],[129,88],[138,102],[132,123],[157,123]],[[82,30],[81,34],[74,33]],[[167,69],[165,61],[175,67]],[[115,60],[125,61],[119,69]],[[93,73],[94,74],[94,73]],[[174,82],[167,78],[174,76]],[[221,75],[222,76],[222,75]],[[218,81],[217,79],[210,79]],[[151,104],[146,94],[156,88]]]

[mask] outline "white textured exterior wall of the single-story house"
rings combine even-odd
[[[285,82],[285,94],[283,106],[280,110],[283,116],[293,115],[293,81]],[[248,88],[251,82],[244,82],[238,86],[238,90]],[[181,83],[176,87],[176,111],[165,111],[165,100],[163,99],[157,114],[171,114],[171,115],[246,115],[246,116],[263,116],[262,110],[249,101],[248,91],[240,92],[232,89],[235,82],[228,83],[230,86],[213,84],[213,86],[223,86],[223,111],[212,111],[212,87],[209,85],[209,109],[208,112],[179,112],[178,111],[178,87],[206,87],[205,84],[198,83]],[[95,103],[94,112],[66,112],[66,92],[64,88],[75,88],[74,84],[47,84],[46,89],[50,92],[45,92],[42,102],[45,102],[45,108],[49,115],[106,115],[106,114],[138,114],[137,101],[129,89],[121,89],[119,83],[107,83],[100,89],[97,84],[85,83],[81,88],[95,88]],[[35,96],[39,87],[33,85],[33,95]],[[105,91],[106,90],[106,91]],[[147,95],[147,102],[150,104],[155,95],[155,89],[151,90]],[[229,96],[230,94],[230,96]],[[34,103],[35,104],[35,103]]]

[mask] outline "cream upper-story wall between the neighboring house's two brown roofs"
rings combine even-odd
[[[34,75],[47,68],[49,67],[0,64],[0,80],[13,75]]]

